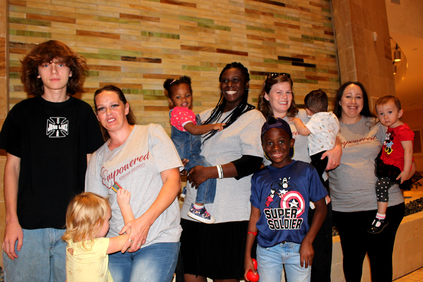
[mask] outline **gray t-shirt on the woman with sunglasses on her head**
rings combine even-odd
[[[299,118],[304,124],[308,123],[310,120],[310,118],[307,117],[307,112],[304,109],[299,109],[298,114],[295,117]],[[288,117],[283,118],[283,120],[289,124],[289,127],[291,127],[292,137],[295,139],[294,156],[292,159],[310,163],[311,159],[310,154],[308,153],[308,136],[302,136],[299,134],[294,122],[288,121],[288,119]],[[270,164],[271,162],[268,159],[264,159],[264,165]]]

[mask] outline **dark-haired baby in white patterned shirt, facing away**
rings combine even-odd
[[[321,156],[327,150],[335,146],[336,135],[339,131],[339,122],[336,115],[327,112],[329,109],[327,95],[322,90],[313,90],[305,96],[305,110],[310,118],[308,123],[304,124],[299,118],[292,118],[299,134],[308,135],[308,151],[310,153],[311,164],[316,167],[319,173],[320,181],[326,189],[329,188],[325,168],[327,166],[327,157],[321,159]],[[324,175],[324,176],[323,176]],[[327,203],[330,198],[327,197]]]

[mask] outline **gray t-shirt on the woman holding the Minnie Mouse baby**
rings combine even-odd
[[[375,159],[385,140],[386,127],[373,118],[362,117],[354,124],[339,123],[342,142],[341,164],[329,172],[330,197],[334,211],[354,212],[377,209]],[[388,206],[404,202],[398,185],[389,189]]]

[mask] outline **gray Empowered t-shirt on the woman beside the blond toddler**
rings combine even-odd
[[[175,167],[183,169],[175,145],[158,124],[135,125],[128,139],[118,148],[110,149],[104,143],[91,156],[85,176],[85,191],[103,197],[109,196],[112,208],[107,237],[119,235],[124,219],[110,189],[115,182],[131,192],[131,208],[135,218],[143,215],[156,200],[163,182],[160,172]],[[179,242],[181,225],[179,203],[173,203],[154,221],[148,231],[146,244]]]

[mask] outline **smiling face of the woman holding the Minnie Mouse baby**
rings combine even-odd
[[[348,85],[339,101],[342,108],[342,118],[358,118],[364,107],[363,91],[355,84]]]

